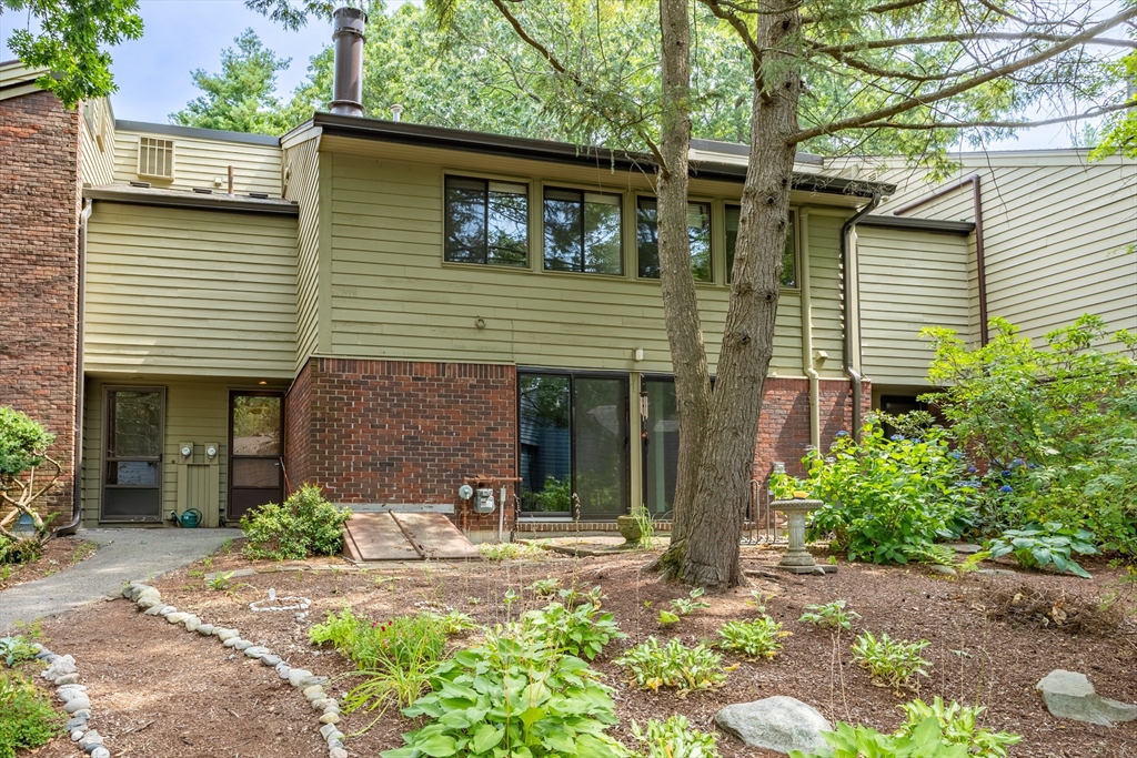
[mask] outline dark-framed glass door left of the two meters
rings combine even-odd
[[[107,388],[101,522],[161,520],[166,391]]]

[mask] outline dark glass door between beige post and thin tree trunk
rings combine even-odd
[[[679,467],[679,407],[672,378],[644,378],[644,507],[653,518],[672,516]]]

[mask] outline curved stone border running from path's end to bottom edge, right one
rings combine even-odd
[[[207,624],[193,614],[186,614],[177,610],[174,606],[167,606],[163,602],[158,590],[144,582],[127,583],[123,588],[123,597],[136,605],[147,616],[163,616],[171,624],[184,626],[186,632],[216,638],[226,648],[243,652],[247,657],[255,658],[263,665],[274,668],[276,675],[299,690],[312,703],[313,709],[319,714],[319,735],[327,744],[327,758],[348,758],[347,750],[343,749],[343,733],[337,726],[340,722],[340,703],[324,690],[324,683],[327,682],[326,676],[316,676],[305,668],[292,668],[268,648],[242,639],[241,633],[235,628]],[[91,758],[109,758],[109,753],[100,756],[92,753]]]

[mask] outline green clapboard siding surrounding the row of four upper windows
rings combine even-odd
[[[441,165],[338,153],[324,153],[321,160],[331,163],[334,355],[671,370],[658,282],[542,272],[540,261],[533,260],[540,256],[539,239],[531,244],[532,269],[445,264]],[[550,174],[556,170],[543,168]],[[629,180],[615,176],[613,181],[619,188]],[[626,223],[628,205],[625,236],[632,228]],[[839,355],[841,341],[839,230],[840,219],[831,217],[819,217],[811,226],[818,282],[815,339],[818,348],[830,355]],[[533,238],[539,238],[536,230],[531,230]],[[632,261],[633,250],[629,250],[625,269]],[[699,285],[698,294],[713,370],[729,290],[721,284]],[[479,318],[484,327],[478,326]],[[780,302],[771,370],[800,375],[800,298],[796,290],[787,290]],[[642,361],[634,360],[637,348],[644,349]],[[840,375],[839,361],[833,363],[831,369]]]

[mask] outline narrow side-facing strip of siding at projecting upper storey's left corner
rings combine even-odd
[[[317,351],[319,319],[319,153],[318,140],[285,152],[289,183],[284,197],[300,206],[296,241],[296,368]]]

